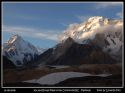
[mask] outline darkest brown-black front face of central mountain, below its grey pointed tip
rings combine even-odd
[[[74,43],[71,47],[51,65],[80,65],[80,64],[110,64],[116,63],[108,54],[91,45]]]

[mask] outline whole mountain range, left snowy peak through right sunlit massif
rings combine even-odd
[[[14,35],[3,44],[3,56],[16,66],[30,61],[35,62],[33,65],[122,62],[122,28],[122,20],[94,16],[81,24],[70,25],[60,36],[60,43],[44,52],[23,40],[21,36]]]

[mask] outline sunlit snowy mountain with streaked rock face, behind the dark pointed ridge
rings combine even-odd
[[[96,44],[113,56],[121,56],[122,35],[122,20],[94,16],[81,24],[70,25],[60,36],[60,41],[64,42],[68,37],[71,37],[77,43]]]

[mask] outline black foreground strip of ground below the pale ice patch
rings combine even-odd
[[[5,87],[121,87],[121,75],[112,75],[108,77],[87,76],[67,79],[56,85],[40,85],[38,83],[7,83]]]

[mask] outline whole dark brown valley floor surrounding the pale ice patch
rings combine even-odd
[[[44,85],[39,83],[24,82],[33,79],[40,79],[49,74],[60,72],[89,73],[93,76],[81,76],[67,78],[57,84]],[[99,74],[111,74],[100,77]],[[61,76],[60,76],[61,77]],[[81,66],[69,66],[56,68],[39,67],[32,69],[5,69],[3,71],[4,87],[121,87],[122,66],[121,64],[84,64]]]

